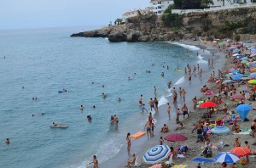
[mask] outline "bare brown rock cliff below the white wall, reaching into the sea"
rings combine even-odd
[[[193,32],[224,27],[226,22],[242,24],[247,18],[256,18],[256,8],[232,8],[218,11],[196,12],[182,15],[178,30],[163,24],[160,18],[139,20],[125,25],[113,25],[95,31],[84,31],[71,36],[108,37],[110,42],[169,41],[195,36]],[[206,30],[207,27],[207,30]],[[210,36],[210,34],[208,34]]]

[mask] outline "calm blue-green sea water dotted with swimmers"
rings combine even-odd
[[[155,86],[160,104],[166,104],[166,83],[184,82],[183,72],[173,71],[177,64],[206,64],[195,56],[195,47],[185,46],[192,50],[188,58],[185,48],[169,42],[69,37],[77,31],[82,28],[0,31],[0,167],[80,167],[93,154],[100,163],[109,160],[127,132],[143,129],[141,94],[148,109]],[[58,93],[62,88],[67,92]],[[119,116],[117,130],[110,128],[110,115]],[[69,127],[50,129],[53,121]]]

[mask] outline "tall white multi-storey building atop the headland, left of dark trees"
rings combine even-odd
[[[149,3],[151,3],[152,12],[160,16],[174,2],[173,0],[151,0]]]

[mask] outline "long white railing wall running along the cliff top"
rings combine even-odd
[[[218,11],[218,10],[225,10],[230,8],[249,8],[249,7],[256,7],[256,3],[250,4],[233,4],[230,6],[225,7],[218,7],[218,8],[204,8],[204,9],[172,9],[172,14],[189,14],[194,12],[210,12],[210,11]]]

